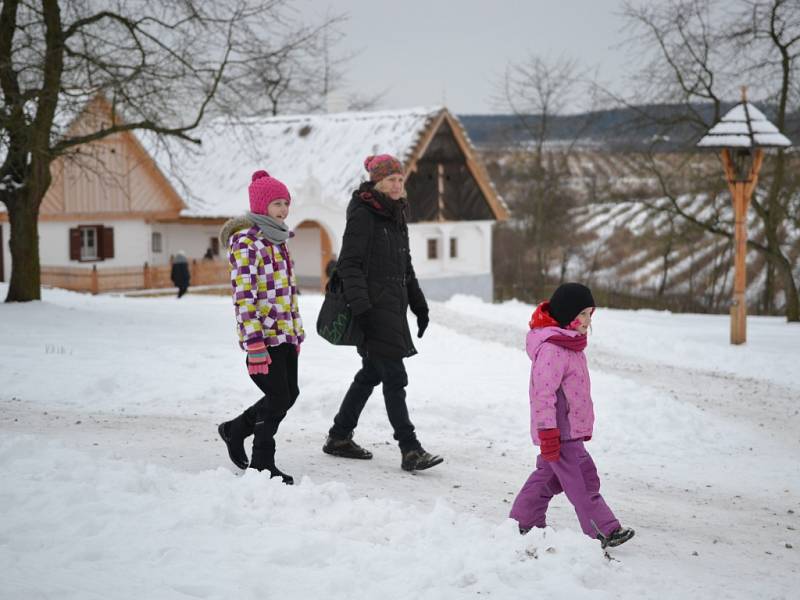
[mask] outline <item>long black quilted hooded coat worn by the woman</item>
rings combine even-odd
[[[428,314],[408,245],[405,200],[394,201],[371,182],[353,192],[337,271],[354,315],[364,313],[363,356],[404,358],[417,353],[407,309]]]

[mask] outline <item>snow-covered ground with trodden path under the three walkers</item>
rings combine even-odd
[[[0,284],[0,297],[5,287]],[[607,560],[563,496],[507,519],[535,460],[530,306],[434,303],[407,361],[412,418],[446,462],[400,470],[380,390],[320,448],[355,351],[313,332],[278,435],[293,487],[235,477],[216,424],[258,398],[226,297],[45,290],[0,305],[0,598],[795,598],[800,326],[600,309],[587,354],[603,493],[636,537]]]

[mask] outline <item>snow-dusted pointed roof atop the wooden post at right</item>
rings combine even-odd
[[[786,148],[792,145],[760,110],[749,102],[737,104],[700,138],[701,148]]]

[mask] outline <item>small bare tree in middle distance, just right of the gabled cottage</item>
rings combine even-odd
[[[566,57],[555,59],[531,55],[510,63],[498,86],[496,102],[510,110],[529,142],[506,157],[500,173],[501,191],[514,219],[497,236],[523,237],[525,256],[518,257],[513,281],[529,281],[524,295],[541,296],[549,280],[563,277],[575,254],[574,227],[570,211],[579,201],[570,185],[570,158],[582,132],[591,124],[587,106],[587,77],[579,63]],[[556,142],[553,122],[569,110],[586,110],[583,123],[569,139]],[[499,242],[502,244],[502,240]],[[508,269],[501,269],[501,272]]]

